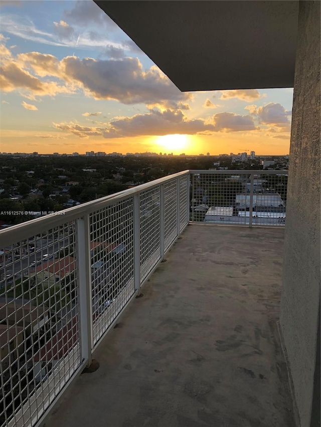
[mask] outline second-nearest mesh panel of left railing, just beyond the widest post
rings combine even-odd
[[[133,198],[90,215],[94,344],[133,295]]]

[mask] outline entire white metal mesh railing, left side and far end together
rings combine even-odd
[[[0,427],[43,422],[190,220],[266,225],[286,175],[184,171],[0,231]]]

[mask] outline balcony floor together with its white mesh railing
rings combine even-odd
[[[257,216],[276,194],[285,212],[286,172],[262,173],[184,171],[0,232],[1,425],[294,425],[284,222]]]

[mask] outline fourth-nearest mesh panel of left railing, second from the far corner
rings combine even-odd
[[[165,251],[177,237],[177,180],[164,185]]]

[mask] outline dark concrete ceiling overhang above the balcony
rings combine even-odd
[[[95,3],[181,91],[293,87],[298,1]]]

